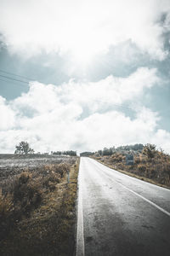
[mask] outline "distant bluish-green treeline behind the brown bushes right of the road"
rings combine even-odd
[[[126,145],[126,146],[120,146],[115,148],[114,146],[112,148],[104,148],[100,149],[97,152],[82,152],[80,156],[90,156],[93,154],[99,154],[99,155],[111,155],[116,152],[122,152],[122,151],[142,151],[144,148],[143,144],[134,144],[134,145]]]

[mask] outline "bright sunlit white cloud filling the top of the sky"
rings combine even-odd
[[[2,0],[0,32],[8,49],[25,57],[44,49],[82,63],[130,39],[141,52],[163,60],[169,14],[168,0]]]

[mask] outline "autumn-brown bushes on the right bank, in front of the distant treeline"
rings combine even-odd
[[[98,157],[94,159],[98,160]],[[125,155],[117,151],[111,156],[102,157],[100,161],[134,175],[150,178],[156,183],[170,186],[170,155],[157,150],[156,145],[146,144],[142,152],[134,154],[134,164],[131,166],[126,165]]]

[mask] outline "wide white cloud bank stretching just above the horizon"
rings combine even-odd
[[[158,80],[156,69],[143,67],[127,78],[109,76],[96,83],[31,82],[29,91],[13,101],[1,97],[6,119],[0,126],[0,152],[14,152],[21,140],[42,152],[130,143],[156,143],[170,152],[170,133],[159,129],[159,114],[138,103]],[[133,118],[122,108],[125,102],[133,102]]]

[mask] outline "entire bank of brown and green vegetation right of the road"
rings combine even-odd
[[[143,147],[139,144],[139,149],[137,144],[133,146],[123,146],[117,150],[104,148],[91,154],[91,157],[117,171],[170,188],[170,155],[156,149],[156,145],[153,144],[146,144]],[[132,165],[127,165],[127,154],[133,155]]]

